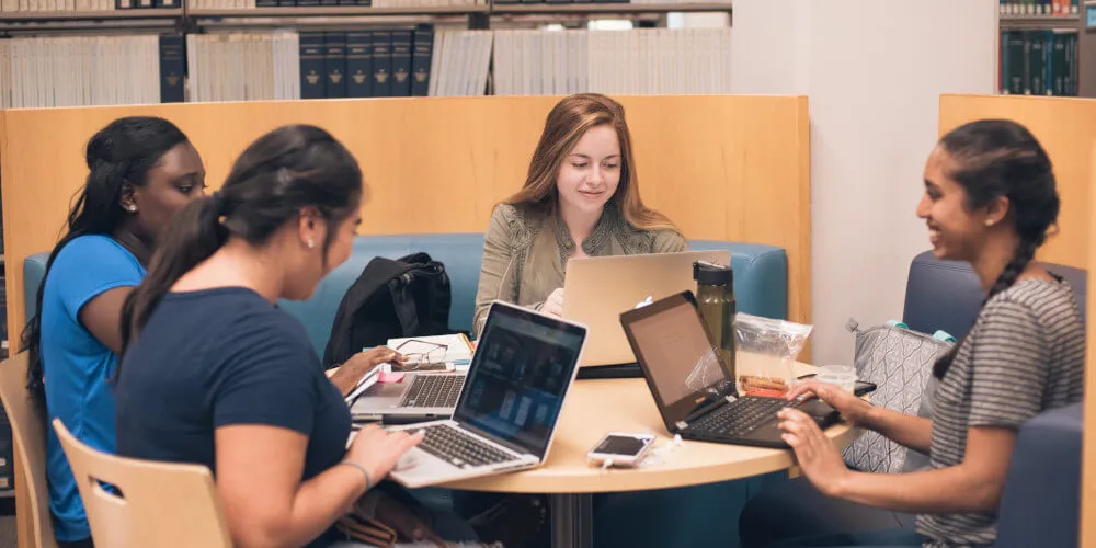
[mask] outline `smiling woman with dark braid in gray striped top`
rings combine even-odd
[[[902,475],[846,468],[834,444],[795,410],[781,412],[784,438],[804,476],[837,499],[916,513],[916,530],[815,538],[800,546],[985,546],[1028,419],[1082,397],[1085,333],[1072,289],[1034,261],[1059,213],[1050,159],[1014,122],[981,121],[946,135],[925,165],[917,216],[939,259],[967,261],[986,298],[967,335],[934,367],[933,419],[879,409],[833,386],[808,392],[860,427],[922,453],[932,466]]]

